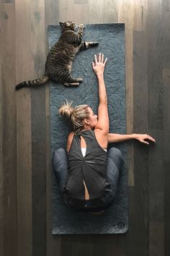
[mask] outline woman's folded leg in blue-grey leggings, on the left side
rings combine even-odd
[[[66,176],[68,171],[68,155],[66,153],[66,150],[64,150],[63,148],[58,148],[58,150],[55,150],[54,152],[53,169],[60,190],[63,191],[63,188],[66,184]]]

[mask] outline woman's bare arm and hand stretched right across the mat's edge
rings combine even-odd
[[[146,140],[150,140],[152,142],[156,142],[156,140],[151,137],[150,135],[143,135],[143,134],[138,134],[138,133],[133,133],[132,135],[120,135],[117,133],[109,133],[107,136],[108,143],[112,142],[122,142],[125,140],[138,140],[141,143],[149,145],[149,142]]]

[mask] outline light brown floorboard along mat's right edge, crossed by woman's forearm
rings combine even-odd
[[[125,22],[125,76],[127,133],[133,133],[133,1],[119,1],[118,22]],[[134,186],[134,148],[128,143],[128,186]]]

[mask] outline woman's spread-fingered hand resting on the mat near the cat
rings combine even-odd
[[[107,62],[107,59],[104,60],[104,54],[99,53],[99,56],[97,56],[96,54],[94,55],[94,61],[92,62],[92,67],[93,67],[94,73],[97,74],[97,77],[103,75],[106,62]]]

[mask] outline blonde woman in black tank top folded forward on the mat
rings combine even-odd
[[[98,116],[88,105],[73,108],[66,103],[59,112],[68,116],[74,132],[68,135],[67,155],[63,149],[55,151],[54,170],[67,205],[79,210],[99,212],[114,200],[122,168],[122,155],[117,148],[107,153],[109,142],[135,138],[148,144],[155,142],[149,135],[109,134],[107,92],[104,85],[104,55],[94,55],[92,67],[99,86]],[[69,168],[68,168],[69,165]],[[68,173],[67,173],[68,169]]]

